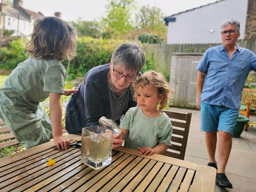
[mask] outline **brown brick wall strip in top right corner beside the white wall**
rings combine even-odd
[[[256,0],[248,0],[244,39],[256,39]]]

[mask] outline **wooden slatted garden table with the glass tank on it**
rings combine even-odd
[[[70,143],[81,136],[69,135]],[[55,165],[47,166],[48,159]],[[171,191],[214,192],[213,167],[154,154],[142,156],[121,147],[112,153],[112,163],[94,170],[81,163],[81,150],[58,150],[48,142],[0,158],[0,191]]]

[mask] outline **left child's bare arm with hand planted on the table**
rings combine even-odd
[[[50,116],[55,145],[58,149],[68,149],[69,140],[62,137],[62,105],[59,93],[50,93]]]

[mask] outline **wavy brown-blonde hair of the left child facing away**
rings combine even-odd
[[[39,17],[26,50],[37,59],[71,60],[76,56],[76,30],[58,17]]]

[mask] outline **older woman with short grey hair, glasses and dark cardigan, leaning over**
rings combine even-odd
[[[90,69],[66,108],[69,134],[81,134],[83,127],[100,125],[102,116],[118,121],[129,108],[136,106],[130,85],[144,63],[142,48],[135,43],[124,43],[114,51],[110,64]]]

